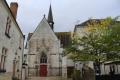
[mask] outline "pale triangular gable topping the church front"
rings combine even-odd
[[[33,32],[33,35],[31,36],[31,39],[41,39],[41,38],[46,38],[46,39],[52,39],[52,40],[58,40],[56,37],[55,33],[51,29],[50,25],[48,24],[46,18],[44,17],[40,24],[37,26],[35,31]]]

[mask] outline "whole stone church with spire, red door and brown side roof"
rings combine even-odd
[[[28,34],[28,74],[31,76],[60,76],[63,46],[70,42],[69,32],[54,32],[51,5],[48,19],[44,16],[33,33]],[[61,41],[62,40],[62,41]],[[61,46],[61,43],[64,43]]]

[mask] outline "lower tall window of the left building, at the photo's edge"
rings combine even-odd
[[[1,55],[0,70],[5,70],[6,54],[7,54],[7,49],[3,47],[3,49],[2,49],[2,55]]]

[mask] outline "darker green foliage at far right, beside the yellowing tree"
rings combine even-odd
[[[105,53],[108,60],[120,59],[120,24],[108,30],[108,34],[103,36]]]

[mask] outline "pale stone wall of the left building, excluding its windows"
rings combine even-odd
[[[5,35],[7,18],[11,20],[9,36]],[[7,49],[5,69],[6,72],[13,72],[13,60],[16,58],[16,76],[21,76],[22,53],[24,46],[24,38],[15,19],[10,13],[10,10],[4,0],[0,0],[0,62],[2,49]]]

